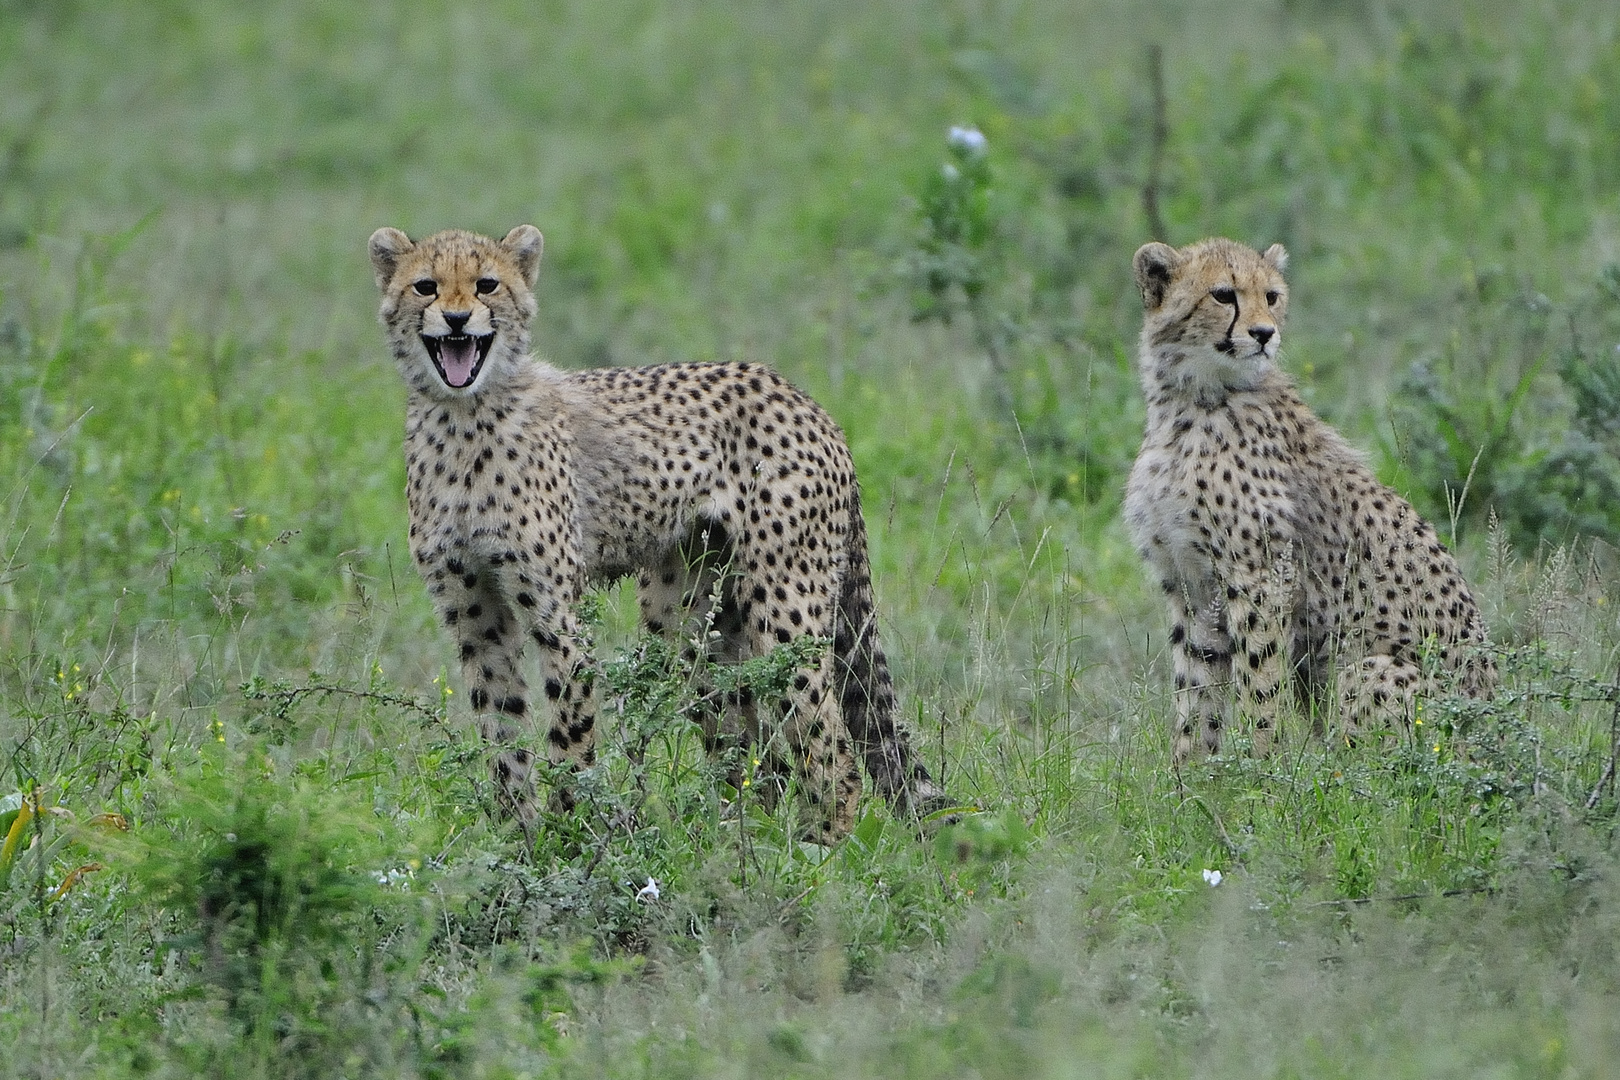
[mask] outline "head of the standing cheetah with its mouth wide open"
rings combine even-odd
[[[478,392],[528,355],[544,240],[518,225],[504,240],[458,228],[415,241],[371,233],[379,317],[405,381],[434,397]]]

